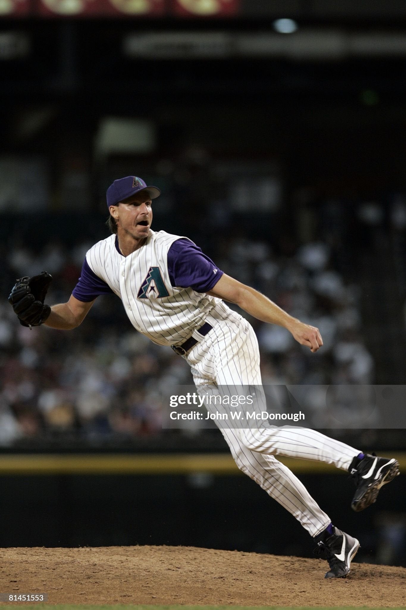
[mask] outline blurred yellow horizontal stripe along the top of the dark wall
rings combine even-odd
[[[406,453],[387,453],[406,471]],[[346,473],[323,462],[278,458],[293,472],[302,474]],[[179,454],[2,454],[0,475],[185,475],[205,472],[239,475],[227,453]]]

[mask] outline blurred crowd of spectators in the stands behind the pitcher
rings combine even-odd
[[[277,220],[268,217],[269,223]],[[264,385],[374,382],[374,361],[362,339],[360,286],[346,277],[328,232],[302,245],[285,232],[274,248],[271,239],[250,231],[229,231],[205,247],[201,229],[191,230],[188,236],[225,273],[320,329],[323,349],[311,354],[285,329],[250,318]],[[4,277],[13,282],[49,271],[54,281],[47,302],[65,302],[91,245],[86,236],[74,246],[52,241],[30,249],[15,243],[5,253]],[[50,438],[97,445],[153,437],[162,432],[160,390],[192,384],[186,362],[136,332],[115,295],[97,298],[82,326],[69,332],[24,328],[5,300],[0,313],[0,445]]]

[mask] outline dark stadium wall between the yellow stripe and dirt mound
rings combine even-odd
[[[345,477],[301,479],[335,525],[357,531],[359,561],[376,561],[388,531],[387,515],[396,522],[394,504],[399,514],[406,511],[404,481],[388,486],[379,506],[358,514],[350,509],[352,486]],[[309,535],[247,477],[2,476],[0,489],[3,547],[149,544],[312,553]],[[393,562],[405,565],[401,534],[399,544]]]

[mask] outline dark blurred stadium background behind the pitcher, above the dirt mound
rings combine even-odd
[[[2,546],[309,555],[307,534],[238,476],[217,431],[161,430],[156,390],[189,382],[189,371],[136,334],[117,298],[99,298],[69,333],[24,329],[6,298],[16,277],[47,270],[48,301],[67,300],[86,249],[107,237],[106,188],[136,173],[163,190],[153,229],[187,235],[226,273],[319,326],[313,356],[250,320],[264,383],[403,384],[406,9],[123,7],[0,4]],[[294,25],[279,18],[298,29],[276,31]],[[334,434],[366,450],[406,449],[404,430],[349,428]],[[402,478],[354,514],[345,476],[292,467],[362,540],[360,559],[405,565]]]

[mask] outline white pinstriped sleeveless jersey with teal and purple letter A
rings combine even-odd
[[[91,271],[121,298],[131,324],[158,345],[183,343],[219,301],[191,287],[171,285],[167,255],[178,239],[166,231],[150,231],[141,248],[123,256],[116,235],[110,235],[86,253]]]

